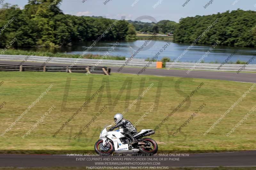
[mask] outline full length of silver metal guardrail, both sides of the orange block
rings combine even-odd
[[[44,56],[27,56],[27,55],[0,55],[0,60],[7,61],[28,61],[28,62],[41,62],[44,63],[49,57]],[[148,67],[156,68],[157,62],[148,64],[144,59],[132,59],[129,62],[124,60],[100,60],[100,59],[84,59],[84,58],[62,58],[52,57],[47,63],[63,63],[63,64],[84,64],[95,66],[130,66],[130,67]],[[208,63],[172,63],[166,62],[165,67],[168,69],[187,69],[187,70],[213,70],[213,71],[238,71],[244,64],[224,64],[218,69],[220,64],[208,64]],[[241,71],[256,72],[256,64],[248,64]]]

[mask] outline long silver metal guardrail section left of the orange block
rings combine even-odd
[[[44,56],[29,56],[28,55],[0,55],[0,60],[8,61],[23,61],[27,58],[28,62],[46,62],[49,57]],[[143,60],[143,59],[142,59]],[[156,62],[152,62],[147,66],[147,61],[140,60],[130,60],[125,63],[125,60],[100,60],[100,59],[84,59],[84,58],[62,58],[62,57],[52,57],[47,63],[62,63],[62,64],[86,64],[95,66],[131,66],[131,67],[149,67],[156,68]]]

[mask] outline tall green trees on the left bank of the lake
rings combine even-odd
[[[61,1],[29,0],[22,10],[17,5],[3,4],[0,46],[5,47],[14,37],[17,41],[13,47],[66,46],[72,41],[95,40],[110,27],[102,41],[124,40],[128,36],[127,21],[119,20],[112,26],[116,20],[67,15],[59,8]],[[12,18],[15,19],[8,24]]]

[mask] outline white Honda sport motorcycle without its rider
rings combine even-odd
[[[94,144],[94,150],[98,154],[112,154],[116,153],[143,153],[155,154],[158,150],[156,141],[151,138],[142,138],[145,136],[153,135],[154,130],[142,129],[140,132],[133,134],[137,139],[137,143],[131,145],[132,140],[125,136],[124,129],[115,131],[108,131],[105,127],[100,132],[100,139]],[[142,138],[142,139],[141,139]]]

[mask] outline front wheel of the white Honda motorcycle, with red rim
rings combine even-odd
[[[103,146],[103,140],[98,140],[94,144],[94,150],[101,155],[111,155],[114,152],[114,146],[111,142],[108,142],[107,146]]]

